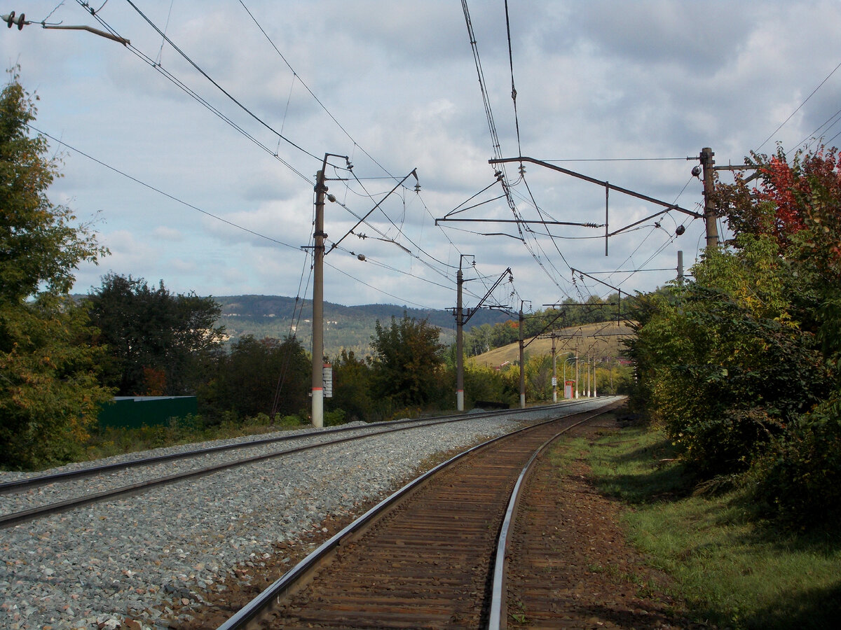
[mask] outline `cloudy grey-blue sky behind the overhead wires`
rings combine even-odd
[[[10,6],[40,22],[56,4]],[[24,87],[40,97],[35,127],[180,200],[50,141],[64,161],[50,199],[93,221],[111,250],[98,267],[78,271],[76,291],[99,286],[113,270],[199,295],[308,296],[310,259],[302,246],[311,238],[313,184],[325,153],[347,155],[361,181],[328,182],[337,201],[325,210],[328,245],[413,169],[421,184],[418,194],[414,178],[407,180],[383,202],[384,214],[373,213],[327,256],[330,302],[452,307],[456,270],[468,255],[465,267],[472,260],[476,266],[466,277],[484,278],[467,283],[468,306],[510,267],[513,286],[496,291],[495,301],[517,308],[524,300],[537,309],[610,292],[586,277],[573,281],[570,267],[623,291],[651,291],[674,278],[678,250],[689,266],[704,244],[703,222],[676,212],[612,238],[608,256],[604,239],[592,238],[604,228],[552,226],[558,238],[550,239],[547,228],[531,224],[536,234],[526,234],[524,244],[511,238],[518,235],[512,223],[436,227],[436,218],[492,185],[495,172],[455,0],[135,3],[259,120],[164,43],[129,3],[91,4],[108,28],[240,130],[114,41],[40,24],[2,29],[6,66],[19,65]],[[600,160],[558,165],[698,211],[701,181],[690,176],[697,161],[681,158],[709,146],[717,164],[741,164],[763,143],[763,152],[779,142],[793,155],[816,130],[826,139],[841,131],[838,124],[820,129],[841,109],[838,72],[775,132],[841,62],[841,3],[834,0],[512,0],[520,148],[504,3],[468,4],[504,157]],[[105,28],[71,0],[47,22]],[[676,159],[607,161],[630,158]],[[340,158],[330,163],[345,166]],[[517,164],[505,172],[518,182],[512,192],[526,220],[604,223],[600,186],[533,164],[526,164],[525,182]],[[328,176],[346,178],[348,171],[329,168]],[[491,186],[470,204],[500,193],[499,184]],[[658,209],[611,193],[610,228]],[[513,218],[504,199],[458,217]],[[678,238],[680,224],[686,231]],[[643,270],[601,273],[636,269]]]

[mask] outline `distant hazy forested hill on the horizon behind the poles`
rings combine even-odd
[[[312,338],[312,302],[304,300],[303,312],[295,315],[295,299],[281,296],[225,296],[214,300],[222,306],[219,323],[225,326],[225,333],[231,339],[251,334],[257,339],[275,337],[283,339],[295,323],[295,336],[304,348],[309,347]],[[325,353],[336,357],[341,349],[353,350],[357,355],[368,354],[371,337],[375,332],[377,320],[383,324],[392,317],[402,318],[403,313],[410,318],[428,319],[429,323],[442,329],[441,341],[451,344],[455,339],[455,318],[446,310],[431,310],[397,306],[393,304],[364,304],[346,307],[341,304],[325,302],[324,305],[324,345]],[[491,325],[505,322],[508,317],[499,311],[482,309],[473,316],[465,327],[466,330],[484,323]]]

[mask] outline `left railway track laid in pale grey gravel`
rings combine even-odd
[[[566,402],[558,407],[571,411],[586,404],[589,403],[586,401]],[[2,512],[0,513],[0,529],[98,501],[135,495],[158,486],[212,475],[222,470],[254,464],[266,459],[298,454],[309,449],[325,448],[383,433],[418,429],[441,423],[467,422],[489,416],[522,415],[523,412],[524,410],[515,409],[427,420],[375,423],[367,427],[331,428],[8,481],[0,484],[0,495],[3,495],[3,499],[0,500],[0,512]],[[527,413],[528,410],[525,412]],[[130,469],[145,469],[145,471],[134,470],[132,475],[127,476],[126,473]],[[95,489],[92,489],[93,483],[90,481],[92,478],[96,480]],[[25,509],[22,509],[24,506]]]

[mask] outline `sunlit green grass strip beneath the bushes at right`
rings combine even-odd
[[[745,630],[841,627],[837,524],[791,533],[755,520],[744,489],[693,494],[657,431],[623,429],[588,451],[600,491],[632,507],[632,542],[672,576],[673,595],[699,620]]]

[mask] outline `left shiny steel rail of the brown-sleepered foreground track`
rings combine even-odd
[[[601,415],[606,411],[606,408],[611,408],[615,404],[616,403],[608,403],[608,405],[606,405],[605,407],[601,407],[599,412],[596,412],[591,416],[585,417],[583,420],[574,423],[574,425],[572,426],[586,422],[592,417]],[[280,578],[278,578],[278,580],[275,580],[272,583],[272,585],[269,585],[264,591],[260,593],[260,595],[249,601],[246,604],[246,606],[243,606],[238,612],[236,612],[232,617],[230,617],[228,621],[219,626],[217,630],[244,630],[245,628],[251,627],[251,624],[256,623],[260,620],[264,612],[267,611],[268,606],[272,605],[272,601],[278,600],[288,591],[296,587],[296,585],[298,585],[301,580],[304,580],[304,578],[307,575],[309,575],[311,571],[315,570],[315,568],[317,568],[325,560],[325,558],[327,558],[333,551],[340,548],[351,538],[356,537],[359,533],[362,532],[362,530],[367,528],[368,525],[372,524],[378,519],[378,517],[382,516],[383,512],[385,512],[389,507],[393,507],[395,504],[399,503],[399,501],[403,501],[405,498],[407,498],[414,491],[419,489],[423,484],[425,484],[437,473],[449,468],[459,460],[467,457],[469,454],[473,454],[479,451],[479,449],[485,449],[491,444],[495,444],[496,442],[499,442],[500,440],[503,440],[505,438],[510,438],[511,436],[516,435],[517,433],[528,431],[529,429],[532,429],[534,427],[556,422],[559,419],[562,419],[563,417],[567,416],[553,417],[552,419],[544,421],[542,423],[537,423],[529,427],[520,428],[511,433],[506,433],[505,435],[500,435],[496,438],[486,440],[482,444],[477,444],[476,446],[473,446],[472,448],[467,449],[450,459],[447,459],[447,461],[436,465],[434,468],[428,470],[423,475],[416,477],[414,480],[411,480],[408,484],[400,488],[398,491],[395,491],[394,493],[383,499],[383,501],[380,501],[376,506],[368,510],[368,512],[362,514],[361,517],[358,517],[355,521],[347,525],[340,532],[334,534],[324,543],[321,543],[321,545],[317,549],[315,549],[306,558],[301,560],[299,564],[296,564],[293,569],[288,570],[288,572],[283,574]],[[565,430],[567,429],[564,429],[564,431]],[[558,436],[555,437],[557,438]]]

